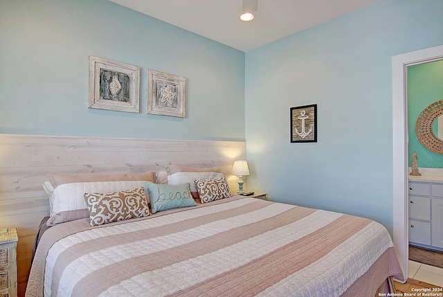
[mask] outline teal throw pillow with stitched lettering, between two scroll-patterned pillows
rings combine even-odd
[[[147,182],[145,186],[150,195],[152,213],[197,205],[192,198],[189,183],[172,186]]]

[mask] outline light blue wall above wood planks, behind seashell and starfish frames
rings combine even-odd
[[[88,109],[89,55],[141,67],[141,113]],[[188,79],[147,115],[146,71]],[[244,53],[107,0],[0,0],[0,133],[244,141]]]

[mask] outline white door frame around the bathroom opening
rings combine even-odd
[[[408,279],[408,66],[443,60],[443,46],[392,57],[393,241]]]

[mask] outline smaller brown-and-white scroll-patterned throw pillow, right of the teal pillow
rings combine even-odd
[[[223,179],[196,179],[195,186],[197,186],[202,204],[232,197],[225,177]]]

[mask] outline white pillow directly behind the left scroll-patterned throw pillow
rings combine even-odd
[[[143,188],[146,181],[93,181],[84,183],[64,183],[55,188],[50,197],[50,217],[47,226],[89,217],[84,201],[84,193],[116,192]],[[149,199],[148,199],[149,203]]]

